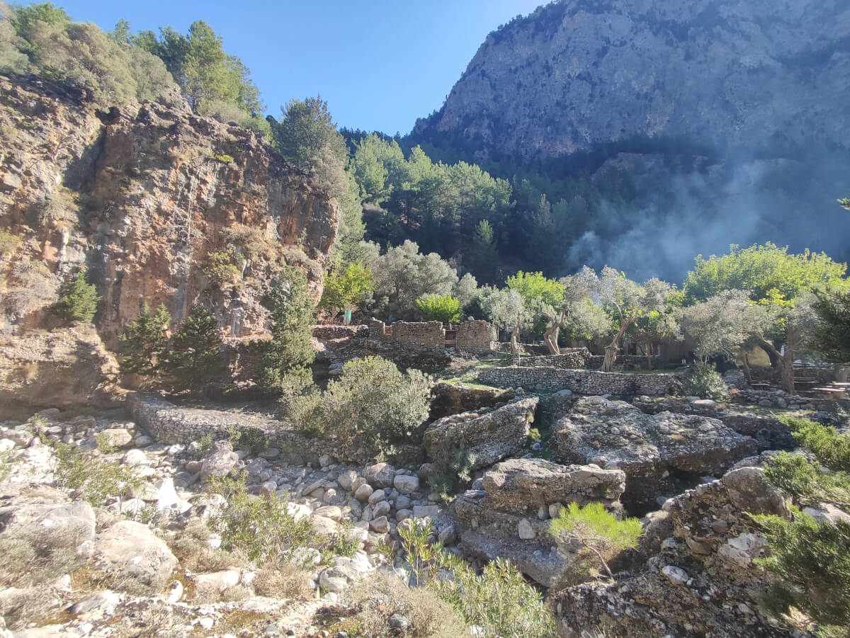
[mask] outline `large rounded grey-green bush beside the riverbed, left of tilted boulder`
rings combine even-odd
[[[292,421],[313,436],[359,439],[379,448],[410,437],[428,418],[431,384],[419,370],[402,374],[392,361],[348,361],[325,392],[294,398]]]

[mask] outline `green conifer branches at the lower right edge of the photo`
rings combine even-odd
[[[784,420],[817,462],[780,453],[765,466],[765,478],[797,504],[831,503],[850,509],[850,434],[806,419]],[[791,520],[753,517],[770,543],[762,564],[779,582],[763,595],[776,615],[800,609],[819,626],[819,635],[846,636],[850,626],[850,523],[817,522],[792,508]]]

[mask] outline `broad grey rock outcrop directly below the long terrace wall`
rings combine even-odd
[[[631,404],[602,397],[577,401],[570,415],[553,426],[552,443],[565,462],[625,471],[623,502],[634,511],[652,509],[659,495],[675,494],[688,480],[717,474],[757,453],[755,439],[717,419],[672,412],[646,415]]]

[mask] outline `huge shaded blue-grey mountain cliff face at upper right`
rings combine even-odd
[[[490,33],[421,136],[547,158],[628,138],[847,146],[841,0],[563,0]]]

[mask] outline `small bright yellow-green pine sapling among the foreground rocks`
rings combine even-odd
[[[613,580],[608,562],[624,550],[633,550],[643,536],[637,518],[618,520],[602,503],[588,503],[581,507],[570,503],[551,523],[552,534],[568,539],[575,536],[599,562]]]

